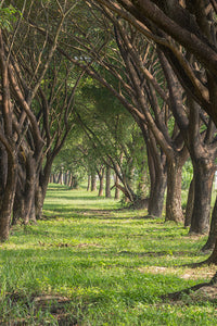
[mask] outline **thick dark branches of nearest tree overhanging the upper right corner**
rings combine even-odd
[[[97,0],[154,40],[182,87],[217,126],[215,1]],[[129,14],[130,13],[130,14]],[[192,102],[193,103],[193,102]],[[192,108],[193,110],[195,108]],[[217,241],[208,262],[217,263]]]

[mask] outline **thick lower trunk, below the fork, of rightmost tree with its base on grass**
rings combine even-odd
[[[209,230],[212,187],[215,174],[213,160],[202,159],[193,162],[195,190],[190,234],[203,235]]]

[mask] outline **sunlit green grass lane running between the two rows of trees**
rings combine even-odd
[[[217,325],[215,300],[162,294],[209,280],[205,237],[113,199],[51,185],[43,220],[0,246],[0,325]]]

